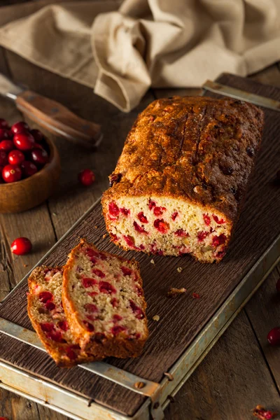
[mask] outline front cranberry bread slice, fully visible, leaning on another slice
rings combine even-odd
[[[148,328],[136,261],[82,240],[64,267],[62,302],[82,349],[100,357],[139,356]]]

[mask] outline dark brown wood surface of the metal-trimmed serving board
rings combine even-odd
[[[260,85],[237,76],[224,75],[220,83],[262,94],[280,100],[276,87]],[[47,264],[62,264],[69,250],[78,242],[78,236],[85,236],[106,251],[134,257],[141,264],[145,295],[148,301],[148,318],[158,314],[160,321],[150,321],[151,336],[141,358],[116,360],[109,363],[153,381],[160,381],[179,358],[181,353],[213,316],[226,297],[237,286],[253,263],[260,258],[267,246],[280,232],[279,186],[274,183],[280,155],[280,115],[276,111],[265,111],[266,125],[262,148],[258,157],[253,182],[237,225],[230,251],[219,265],[201,265],[192,258],[151,257],[140,253],[125,253],[109,243],[105,233],[101,208],[97,206],[85,220],[64,239],[54,253],[45,261]],[[97,229],[94,226],[97,225]],[[177,267],[183,267],[179,274]],[[169,300],[166,292],[170,286],[188,289],[188,293],[176,300]],[[8,297],[0,309],[0,316],[22,326],[31,328],[26,314],[27,285],[22,284],[17,293]],[[192,292],[201,295],[200,300],[191,297]],[[10,348],[13,347],[13,353]],[[26,357],[28,352],[29,357]],[[79,368],[60,370],[47,355],[25,344],[1,335],[0,358],[15,363],[22,369],[38,376],[57,381],[104,405],[132,415],[144,398],[123,391],[120,386],[109,385],[108,381],[94,377]],[[125,395],[125,398],[124,398]],[[130,407],[130,409],[129,409]]]

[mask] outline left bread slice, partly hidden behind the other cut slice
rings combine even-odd
[[[38,337],[60,367],[97,360],[75,342],[62,307],[60,267],[36,267],[29,276],[27,310]]]

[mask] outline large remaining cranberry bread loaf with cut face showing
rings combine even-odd
[[[159,99],[137,118],[102,198],[125,249],[219,262],[260,146],[263,113],[234,99]]]

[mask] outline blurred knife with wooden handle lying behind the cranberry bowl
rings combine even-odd
[[[102,141],[100,125],[83,120],[59,102],[15,85],[1,73],[0,94],[12,99],[22,113],[49,132],[86,148],[94,148]]]

